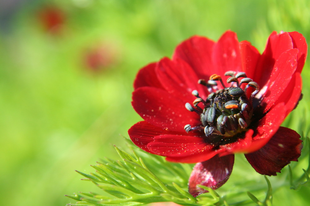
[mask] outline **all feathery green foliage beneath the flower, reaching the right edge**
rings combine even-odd
[[[131,154],[114,146],[122,160],[105,158],[97,162],[96,165],[92,165],[95,172],[90,174],[77,171],[85,177],[82,180],[94,183],[95,186],[104,191],[104,195],[94,192],[66,195],[78,201],[75,204],[68,205],[143,205],[154,202],[218,206],[253,205],[253,203],[260,206],[272,205],[272,186],[266,176],[267,187],[261,187],[259,182],[241,181],[240,187],[236,187],[235,191],[223,189],[225,187],[220,188],[219,191],[222,189],[222,195],[208,187],[199,185],[199,187],[210,192],[194,198],[187,191],[187,182],[193,165],[167,162],[161,156],[142,151],[130,139],[124,138],[124,140],[127,141],[128,148],[132,150]],[[308,150],[310,149],[308,137],[305,138],[304,144],[307,145],[303,148],[306,155],[303,155],[301,160],[308,157]],[[309,162],[309,160],[307,161]],[[289,165],[288,170],[284,170],[282,174],[285,178],[284,181],[280,185],[274,182],[274,190],[289,184],[291,189],[299,190],[302,186],[307,185],[310,179],[309,168],[310,162],[308,169],[303,169],[304,174],[301,177],[293,178],[293,171]],[[262,199],[264,193],[264,200],[259,200]],[[244,194],[250,199],[246,198]],[[237,202],[235,201],[236,197]]]

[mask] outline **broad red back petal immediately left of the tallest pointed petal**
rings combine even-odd
[[[206,37],[193,36],[176,47],[172,59],[186,61],[199,78],[207,79],[216,73],[211,59],[214,44]]]

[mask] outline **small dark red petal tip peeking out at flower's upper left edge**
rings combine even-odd
[[[155,73],[156,65],[157,63],[151,63],[139,70],[134,82],[135,90],[142,86],[162,88],[162,85],[158,81]]]

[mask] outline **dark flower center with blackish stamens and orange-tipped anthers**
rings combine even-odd
[[[236,72],[233,71],[225,73],[225,76],[230,76],[227,83],[231,83],[231,87],[226,87],[221,76],[217,74],[211,75],[208,82],[204,79],[198,81],[199,84],[208,88],[210,95],[206,99],[202,99],[198,91],[193,90],[192,94],[197,99],[194,100],[193,106],[186,103],[185,107],[200,116],[201,125],[192,127],[187,124],[184,127],[186,132],[203,130],[206,137],[210,137],[212,134],[232,137],[246,131],[253,115],[252,99],[258,92],[259,85],[247,78],[244,72],[235,74]],[[217,81],[224,89],[218,89]],[[245,87],[242,85],[244,83],[247,84]],[[241,88],[241,85],[244,89]],[[250,98],[246,95],[249,87],[255,89]]]

